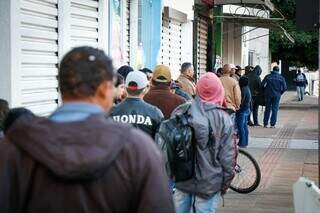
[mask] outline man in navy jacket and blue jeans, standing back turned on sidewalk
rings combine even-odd
[[[279,110],[281,95],[287,90],[285,79],[279,74],[279,67],[274,66],[271,74],[267,75],[262,81],[266,100],[263,126],[268,127],[270,112],[272,111],[270,125],[275,128]]]

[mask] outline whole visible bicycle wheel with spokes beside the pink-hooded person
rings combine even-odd
[[[257,161],[245,150],[239,149],[235,176],[230,188],[238,193],[254,191],[260,183],[261,172]]]

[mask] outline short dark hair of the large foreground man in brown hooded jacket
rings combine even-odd
[[[93,96],[103,81],[114,77],[112,60],[103,50],[76,47],[62,59],[59,69],[61,94]]]

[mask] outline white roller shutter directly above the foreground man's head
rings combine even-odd
[[[98,8],[97,0],[71,0],[71,47],[98,47]]]

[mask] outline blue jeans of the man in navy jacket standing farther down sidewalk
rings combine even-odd
[[[277,116],[279,110],[280,97],[266,97],[266,109],[264,111],[263,125],[267,126],[269,123],[270,113],[272,111],[270,125],[275,126],[277,123]]]

